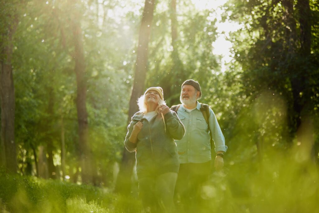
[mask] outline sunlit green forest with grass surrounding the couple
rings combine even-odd
[[[225,136],[198,212],[319,212],[318,0],[0,0],[1,212],[143,212],[127,126],[194,79]]]

